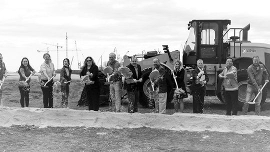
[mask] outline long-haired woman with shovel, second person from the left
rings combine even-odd
[[[20,93],[20,106],[28,107],[29,105],[29,92],[30,92],[30,75],[35,73],[35,70],[29,63],[28,58],[23,57],[20,61],[20,66],[18,69],[19,81],[24,82],[24,84],[19,85],[19,93]],[[20,84],[20,83],[19,83]]]

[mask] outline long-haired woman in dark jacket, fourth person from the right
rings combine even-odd
[[[178,112],[178,106],[180,106],[180,112],[183,112],[183,108],[184,108],[183,98],[187,97],[187,92],[186,92],[186,88],[185,88],[185,84],[184,84],[184,68],[183,68],[183,64],[181,61],[176,60],[174,62],[173,73],[174,73],[178,88],[181,88],[184,91],[184,93],[180,94],[179,99],[174,100],[175,112]],[[176,88],[176,84],[175,84],[174,80],[173,80],[173,87]]]

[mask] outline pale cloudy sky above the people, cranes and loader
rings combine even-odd
[[[270,44],[270,9],[263,0],[0,0],[0,19],[8,71],[18,70],[22,57],[38,71],[45,52],[37,50],[47,49],[57,68],[57,43],[61,68],[66,32],[72,69],[86,56],[99,65],[115,47],[120,57],[162,50],[163,44],[182,52],[192,19],[230,19],[228,27],[250,23],[248,39]]]

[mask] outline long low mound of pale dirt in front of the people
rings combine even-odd
[[[270,130],[270,117],[256,115],[226,116],[220,114],[114,113],[63,108],[0,107],[0,126],[16,125],[85,126],[104,128],[150,127],[168,130],[219,131],[252,133]]]

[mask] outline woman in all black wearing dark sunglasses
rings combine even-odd
[[[88,110],[98,111],[99,108],[99,88],[98,67],[92,57],[87,56],[84,60],[84,66],[80,72],[81,76],[88,75],[89,79],[85,81],[86,99],[88,101]]]

